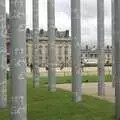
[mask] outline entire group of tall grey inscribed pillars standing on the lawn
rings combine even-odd
[[[10,0],[11,79],[10,117],[11,120],[27,120],[26,91],[26,0]],[[39,19],[38,0],[33,0],[33,86],[39,86]],[[56,91],[55,52],[55,1],[48,5],[48,88]],[[120,120],[120,0],[112,1],[112,37],[115,57],[115,104],[116,120]],[[98,95],[104,95],[104,0],[97,0],[98,20]],[[82,100],[81,92],[81,18],[80,0],[71,0],[72,37],[72,93],[73,100]],[[0,108],[7,105],[6,96],[6,12],[5,0],[0,1]],[[113,79],[113,80],[114,80]]]

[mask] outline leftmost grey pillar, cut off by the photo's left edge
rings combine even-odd
[[[0,1],[0,108],[7,105],[6,80],[6,12],[5,0]]]

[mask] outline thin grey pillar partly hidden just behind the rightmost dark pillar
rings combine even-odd
[[[114,22],[115,22],[115,7],[114,7],[114,0],[111,0],[111,16],[112,16],[112,87],[115,87],[115,39],[114,39]]]

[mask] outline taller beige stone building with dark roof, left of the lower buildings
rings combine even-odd
[[[26,30],[27,42],[27,63],[32,63],[32,32]],[[43,29],[39,34],[39,60],[40,66],[44,67],[48,64],[48,36]],[[71,40],[69,38],[69,31],[58,32],[56,29],[56,65],[64,64],[71,65]]]

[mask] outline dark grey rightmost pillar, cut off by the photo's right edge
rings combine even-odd
[[[116,120],[120,120],[120,0],[114,1],[115,8],[115,107]]]

